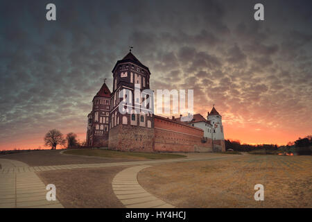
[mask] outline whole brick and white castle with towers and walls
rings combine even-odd
[[[207,119],[194,114],[188,122],[155,114],[119,112],[119,93],[128,89],[135,94],[150,89],[150,70],[130,51],[118,60],[113,74],[113,89],[110,92],[105,81],[92,101],[92,112],[87,116],[87,146],[105,146],[119,151],[141,152],[214,152],[225,151],[222,117],[213,107]],[[135,96],[132,104],[138,103]]]

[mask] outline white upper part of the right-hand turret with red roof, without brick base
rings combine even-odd
[[[212,137],[213,139],[224,140],[223,126],[222,126],[222,117],[213,107],[211,112],[207,113],[207,120],[210,121],[212,125]]]

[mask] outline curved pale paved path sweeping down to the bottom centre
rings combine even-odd
[[[173,208],[163,200],[148,193],[137,181],[137,173],[148,165],[130,167],[116,174],[112,182],[112,188],[117,198],[127,208]]]

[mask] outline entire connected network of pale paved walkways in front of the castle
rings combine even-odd
[[[173,207],[146,192],[137,182],[137,173],[150,164],[166,162],[188,162],[218,160],[238,155],[187,157],[168,160],[146,160],[133,162],[110,162],[99,164],[67,164],[58,166],[29,167],[17,160],[0,158],[0,207],[63,207],[58,200],[46,200],[46,186],[35,172],[59,169],[81,169],[96,167],[137,166],[117,174],[113,181],[114,192],[126,207]],[[149,165],[146,165],[149,164]],[[138,166],[139,165],[139,166]],[[137,197],[137,198],[135,198]]]

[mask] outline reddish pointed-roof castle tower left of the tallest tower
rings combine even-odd
[[[87,146],[108,146],[110,123],[110,89],[105,82],[92,100],[92,112],[88,114]]]

